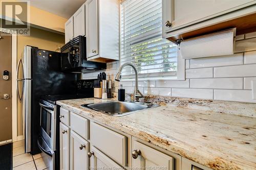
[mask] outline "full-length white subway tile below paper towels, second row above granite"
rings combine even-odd
[[[243,89],[243,78],[191,79],[190,88]]]

